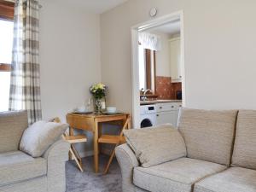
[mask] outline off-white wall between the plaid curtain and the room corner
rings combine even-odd
[[[66,122],[67,112],[90,97],[90,85],[101,81],[100,17],[61,1],[44,0],[41,4],[43,118],[58,116]],[[86,148],[90,150],[90,142]]]

